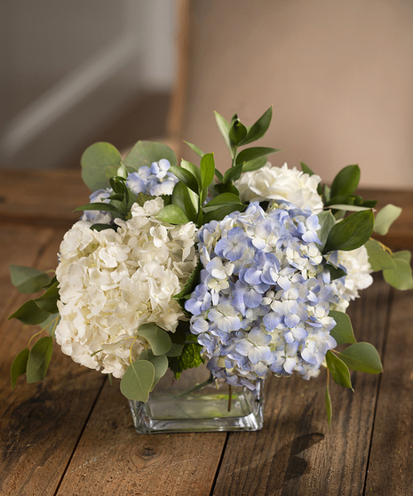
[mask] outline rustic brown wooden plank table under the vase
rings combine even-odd
[[[88,192],[77,171],[0,172],[0,494],[355,495],[413,494],[413,292],[382,280],[350,314],[358,340],[382,356],[382,375],[353,373],[355,393],[317,380],[271,379],[260,432],[140,436],[118,384],[74,364],[58,346],[42,383],[20,377],[12,358],[33,330],[7,321],[22,298],[7,264],[56,266],[70,213]],[[367,196],[367,195],[366,195]],[[372,192],[405,208],[389,244],[413,247],[411,192]]]

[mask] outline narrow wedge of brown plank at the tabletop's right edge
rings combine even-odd
[[[394,292],[366,494],[413,494],[413,292]]]

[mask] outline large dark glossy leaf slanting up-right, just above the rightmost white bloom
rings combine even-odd
[[[374,227],[374,215],[370,210],[354,212],[338,222],[330,230],[322,253],[355,250],[368,241]]]

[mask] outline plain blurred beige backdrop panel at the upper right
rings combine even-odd
[[[361,185],[413,187],[413,2],[196,0],[183,137],[228,155],[213,110],[252,124],[261,146],[326,181],[361,165]],[[192,158],[192,152],[186,152]]]

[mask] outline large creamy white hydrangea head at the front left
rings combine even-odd
[[[163,199],[133,205],[130,220],[100,232],[80,220],[60,244],[56,276],[64,353],[87,367],[120,378],[147,346],[139,325],[155,322],[174,332],[184,314],[172,300],[197,263],[195,225],[157,220]]]

